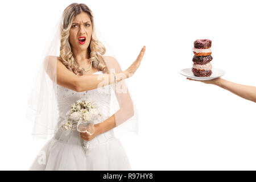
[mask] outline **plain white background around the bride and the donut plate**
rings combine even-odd
[[[32,77],[65,7],[92,9],[123,69],[146,46],[129,78],[139,135],[120,138],[134,170],[256,169],[255,103],[186,80],[193,42],[212,40],[213,68],[256,86],[253,1],[1,1],[0,169],[27,170],[47,140],[25,118]]]

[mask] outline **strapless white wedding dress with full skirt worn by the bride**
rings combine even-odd
[[[111,89],[110,85],[103,88]],[[84,97],[95,101],[102,111],[102,118],[94,124],[110,117],[111,92],[100,93],[97,89],[75,92],[57,85],[58,125],[63,122],[71,104]],[[90,140],[88,153],[82,147],[83,141],[76,129],[64,131],[60,127],[43,146],[29,170],[131,170],[126,152],[115,138],[113,129]]]

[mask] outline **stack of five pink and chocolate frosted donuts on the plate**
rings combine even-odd
[[[198,39],[194,42],[193,68],[192,72],[195,76],[209,77],[212,75],[212,40]]]

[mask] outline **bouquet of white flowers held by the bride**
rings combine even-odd
[[[94,119],[100,114],[96,104],[88,100],[78,100],[71,105],[71,109],[68,110],[66,117],[67,122],[64,122],[61,126],[65,131],[72,130],[76,126],[76,130],[82,133],[94,133]],[[89,148],[89,142],[84,140],[84,149]]]

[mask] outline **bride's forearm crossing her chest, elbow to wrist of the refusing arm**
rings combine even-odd
[[[116,73],[116,75],[117,75],[117,82],[127,78],[125,72],[119,72],[119,73]],[[114,79],[113,73],[104,73],[102,75],[77,76],[76,90],[78,92],[84,92],[87,90],[100,88],[102,86],[106,86],[114,82],[115,82],[115,79]]]

